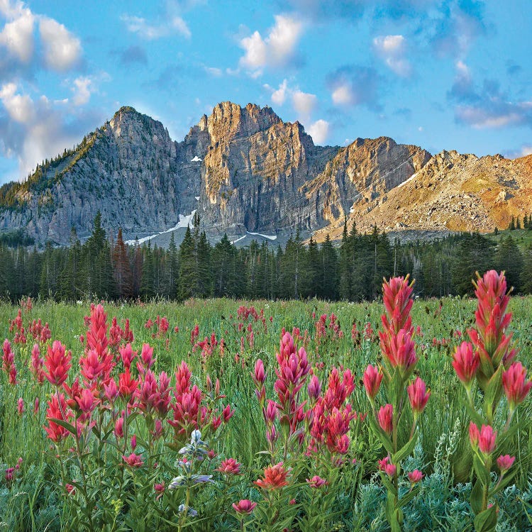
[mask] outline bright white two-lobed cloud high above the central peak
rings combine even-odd
[[[262,74],[265,67],[283,67],[294,59],[294,50],[301,37],[303,23],[287,15],[276,15],[275,26],[262,38],[258,31],[240,40],[245,55],[240,65],[254,76]]]

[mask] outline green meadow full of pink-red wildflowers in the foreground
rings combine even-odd
[[[0,306],[0,530],[532,530],[532,298]]]

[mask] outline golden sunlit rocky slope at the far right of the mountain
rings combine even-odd
[[[386,194],[355,201],[360,231],[480,231],[507,228],[512,216],[532,212],[532,155],[509,160],[443,151]],[[340,238],[336,223],[318,231]]]

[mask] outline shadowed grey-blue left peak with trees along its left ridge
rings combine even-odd
[[[64,244],[72,227],[81,238],[89,235],[97,211],[115,234],[118,227],[125,235],[171,227],[199,192],[188,165],[179,164],[195,150],[188,144],[189,150],[187,140],[177,145],[160,122],[122,108],[89,135],[81,157],[75,153],[45,172],[50,188],[21,192],[21,208],[3,209],[0,228],[26,228],[37,242]]]

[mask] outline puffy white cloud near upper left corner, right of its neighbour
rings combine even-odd
[[[73,67],[82,52],[79,39],[53,18],[40,17],[40,38],[44,47],[45,64],[63,72]]]

